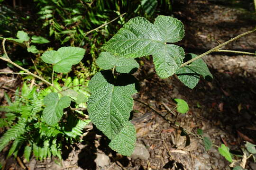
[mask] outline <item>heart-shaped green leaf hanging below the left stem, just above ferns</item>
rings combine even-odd
[[[63,109],[70,105],[70,98],[68,96],[63,96],[59,99],[58,93],[49,93],[44,98],[44,103],[46,108],[43,110],[43,121],[48,125],[54,125],[57,123],[62,115]]]

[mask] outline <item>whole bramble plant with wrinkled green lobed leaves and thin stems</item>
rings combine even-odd
[[[237,52],[256,55],[255,53],[220,49],[229,42],[255,31],[256,29],[240,34],[201,55],[185,55],[182,47],[173,44],[182,40],[184,36],[184,28],[180,20],[174,17],[158,16],[152,24],[144,17],[130,19],[117,34],[103,45],[104,51],[96,60],[103,71],[96,73],[88,85],[91,95],[87,107],[91,122],[110,139],[110,148],[123,155],[131,155],[136,143],[136,130],[130,122],[130,112],[133,109],[132,94],[137,93],[139,85],[137,78],[132,76],[139,67],[135,58],[152,55],[155,73],[160,78],[167,78],[176,74],[184,85],[193,88],[201,76],[213,78],[201,57],[211,52]],[[5,51],[4,43],[6,40],[8,39],[4,39],[2,43],[5,56],[0,59],[39,78],[47,85],[52,86],[52,90],[55,90],[55,92],[48,93],[43,99],[46,107],[42,111],[42,122],[48,126],[61,124],[62,121],[60,120],[63,116],[68,115],[64,114],[64,109],[70,106],[71,101],[86,101],[79,99],[84,97],[84,93],[79,97],[79,94],[76,95],[76,99],[73,99],[70,95],[59,90],[54,83],[50,83],[13,63]],[[66,73],[71,70],[72,65],[77,64],[82,59],[84,53],[85,50],[82,48],[61,47],[57,51],[46,51],[41,59],[48,64],[53,64],[53,73]],[[187,112],[188,105],[186,102],[181,99],[175,101],[179,112]],[[174,124],[173,126],[182,130],[183,134],[181,135],[183,136],[188,137],[192,134],[179,125]],[[198,130],[197,135],[192,135],[204,140],[206,150],[212,146],[210,139],[202,136],[201,130]],[[221,145],[218,148],[228,161],[232,161],[227,146]]]

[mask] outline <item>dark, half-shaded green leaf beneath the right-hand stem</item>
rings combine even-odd
[[[185,60],[190,60],[195,57],[197,57],[196,54],[186,54]],[[204,78],[206,78],[206,76],[213,78],[208,69],[208,66],[202,59],[197,59],[191,64],[179,68],[176,72],[176,75],[184,85],[191,89],[198,84],[200,75],[202,75]]]

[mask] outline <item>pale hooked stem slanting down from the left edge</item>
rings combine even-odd
[[[0,57],[0,59],[9,62],[10,64],[14,65],[15,67],[17,67],[17,68],[19,68],[19,69],[25,71],[27,74],[29,74],[29,75],[31,75],[31,76],[34,76],[34,77],[36,77],[36,78],[42,80],[42,81],[45,82],[47,85],[53,86],[53,87],[57,90],[58,93],[62,94],[62,93],[59,91],[59,89],[58,89],[57,87],[55,87],[55,85],[51,84],[50,82],[48,82],[48,81],[47,81],[46,79],[44,79],[43,77],[40,77],[40,76],[35,75],[34,73],[32,73],[32,72],[28,71],[27,69],[25,69],[25,68],[19,66],[18,64],[16,64],[15,62],[13,62],[11,59],[9,59],[8,54],[7,54],[6,50],[5,50],[5,44],[4,44],[4,43],[5,43],[5,40],[6,40],[6,39],[4,39],[3,42],[2,42],[2,46],[3,46],[4,54],[6,55],[7,58]]]

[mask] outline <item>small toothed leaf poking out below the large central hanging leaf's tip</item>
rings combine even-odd
[[[119,134],[115,136],[109,146],[122,155],[130,156],[136,143],[136,130],[133,124],[126,122]]]

